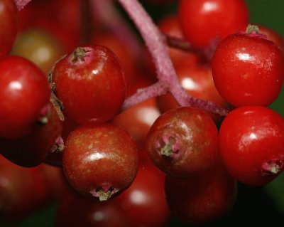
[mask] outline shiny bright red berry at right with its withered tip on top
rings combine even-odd
[[[281,90],[283,63],[275,43],[261,35],[237,33],[217,46],[212,59],[213,80],[231,105],[267,106]]]

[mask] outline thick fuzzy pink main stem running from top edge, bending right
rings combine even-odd
[[[166,38],[163,36],[163,33],[160,32],[158,27],[155,26],[155,23],[153,23],[151,17],[143,9],[141,4],[139,4],[136,0],[119,0],[119,3],[124,7],[130,18],[135,23],[151,53],[155,63],[157,78],[160,83],[163,83],[163,88],[165,88],[163,93],[170,91],[173,97],[175,97],[175,100],[177,100],[182,106],[200,107],[209,112],[226,115],[228,111],[224,108],[215,105],[213,102],[191,97],[181,87],[175,73],[173,63],[170,60]],[[147,89],[144,89],[138,96],[147,97],[146,92]],[[131,100],[131,103],[133,104],[135,96],[136,95],[129,97],[126,102]]]

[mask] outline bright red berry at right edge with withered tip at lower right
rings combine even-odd
[[[219,149],[229,173],[253,186],[268,184],[284,167],[284,120],[267,107],[239,107],[219,131]]]

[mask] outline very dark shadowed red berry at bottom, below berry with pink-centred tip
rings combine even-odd
[[[170,211],[180,221],[204,224],[231,210],[236,199],[236,180],[218,160],[214,167],[195,176],[182,179],[168,175],[165,194]]]

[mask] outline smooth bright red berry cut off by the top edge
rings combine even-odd
[[[198,47],[242,31],[249,22],[243,0],[181,0],[178,16],[185,38]]]

